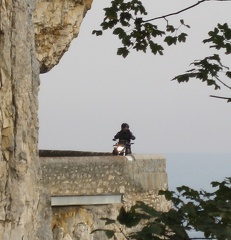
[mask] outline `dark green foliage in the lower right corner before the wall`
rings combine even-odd
[[[211,184],[217,188],[212,193],[196,191],[186,186],[178,187],[177,193],[160,191],[159,194],[172,201],[173,208],[168,212],[159,212],[143,202],[137,202],[129,211],[122,207],[117,221],[104,220],[106,225],[117,225],[126,239],[231,239],[231,178]],[[124,227],[131,229],[142,221],[146,223],[140,231],[125,235]],[[202,232],[204,237],[190,237],[192,230]],[[109,238],[116,233],[104,229],[93,232],[96,231],[105,231]]]

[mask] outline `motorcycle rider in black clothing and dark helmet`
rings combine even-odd
[[[129,130],[129,125],[127,123],[121,124],[121,130],[114,136],[113,141],[119,139],[119,143],[126,142],[126,155],[131,154],[131,140],[135,140],[136,137],[133,133]]]

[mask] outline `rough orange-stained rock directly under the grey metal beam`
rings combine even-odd
[[[97,228],[105,228],[102,218],[116,219],[119,207],[112,205],[55,207],[53,208],[53,238],[54,240],[108,240],[105,233],[91,234]],[[110,227],[109,229],[114,229]],[[123,240],[122,234],[117,239]]]

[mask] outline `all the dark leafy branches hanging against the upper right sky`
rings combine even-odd
[[[150,50],[154,55],[163,55],[164,44],[172,46],[185,42],[188,35],[182,32],[182,28],[184,30],[185,27],[190,27],[184,23],[183,19],[180,20],[179,26],[174,26],[169,23],[168,18],[205,2],[209,2],[209,0],[200,0],[178,12],[145,20],[144,17],[148,15],[148,12],[141,1],[112,0],[111,6],[104,8],[105,15],[101,23],[102,29],[94,30],[93,34],[100,36],[103,34],[103,31],[112,29],[113,34],[118,36],[122,43],[122,46],[117,50],[117,54],[124,58],[128,56],[131,49],[142,52]],[[153,24],[153,22],[160,19],[165,21],[164,27],[163,24],[161,26],[160,24]],[[218,24],[208,35],[209,37],[203,43],[210,43],[211,48],[224,50],[226,54],[231,53],[231,28],[227,23]],[[206,82],[208,86],[214,86],[215,90],[220,89],[221,86],[228,89],[231,88],[231,85],[226,83],[230,82],[231,71],[221,63],[220,55],[214,54],[202,60],[195,60],[191,65],[193,65],[192,69],[174,77],[173,80],[181,83],[195,78]],[[218,98],[223,98],[231,102],[231,98],[229,97]]]

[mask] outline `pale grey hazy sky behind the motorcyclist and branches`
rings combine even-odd
[[[153,18],[196,2],[147,0],[147,10]],[[186,44],[166,47],[164,56],[132,52],[126,59],[116,55],[120,43],[111,33],[91,34],[106,3],[94,1],[69,51],[40,76],[39,148],[112,151],[113,136],[127,122],[136,153],[230,153],[231,103],[209,95],[231,91],[170,80],[213,53],[202,40],[217,22],[230,22],[231,2],[211,1],[169,18],[191,25]]]

